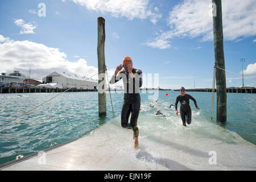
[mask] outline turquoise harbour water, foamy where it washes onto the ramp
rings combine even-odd
[[[168,96],[165,93],[168,93]],[[19,94],[22,97],[18,94],[1,94],[0,125],[56,94],[58,93]],[[191,101],[192,124],[186,128],[182,126],[180,115],[175,115],[175,109],[168,109],[170,104],[175,103],[177,94],[179,93],[160,91],[159,102],[148,100],[148,94],[141,94],[142,111],[138,127],[142,139],[159,140],[170,136],[162,142],[179,142],[180,146],[176,144],[179,150],[186,150],[185,146],[188,144],[196,147],[212,140],[237,146],[249,142],[256,144],[255,94],[228,93],[228,122],[218,125],[210,121],[211,94],[188,93],[196,98],[201,109],[196,110]],[[105,119],[98,118],[97,92],[77,92],[64,93],[6,125],[0,129],[0,164],[81,137],[108,123],[114,123],[118,128],[115,132],[123,131],[119,124],[123,94],[112,94],[115,117],[112,116],[109,94],[107,97],[108,117]],[[150,109],[150,104],[155,107]],[[157,109],[164,115],[156,116]]]

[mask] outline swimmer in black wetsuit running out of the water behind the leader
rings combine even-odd
[[[196,109],[200,109],[197,106],[195,98],[193,98],[189,94],[185,94],[185,88],[181,87],[180,88],[180,96],[177,96],[177,98],[176,98],[175,110],[176,110],[176,115],[178,115],[179,112],[177,111],[177,104],[178,104],[178,102],[180,102],[180,116],[181,116],[181,119],[183,122],[183,126],[187,126],[186,121],[187,121],[188,125],[190,125],[190,123],[191,123],[191,107],[189,106],[189,99],[194,101]]]

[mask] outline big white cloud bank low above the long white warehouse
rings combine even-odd
[[[84,59],[71,62],[59,49],[28,40],[0,43],[0,63],[2,72],[18,70],[26,75],[31,68],[31,77],[38,79],[54,71],[86,77],[98,72],[97,68],[89,66]]]

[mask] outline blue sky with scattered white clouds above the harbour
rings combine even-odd
[[[143,88],[211,88],[214,44],[208,0],[1,0],[0,72],[42,80],[50,73],[97,73],[97,18],[105,18],[109,77],[126,56],[141,69]],[[256,86],[256,1],[223,0],[226,70]],[[97,77],[94,77],[97,78]],[[148,78],[148,79],[146,79]],[[249,80],[249,79],[250,80]],[[195,79],[195,80],[194,80]],[[253,81],[254,80],[254,81]],[[226,72],[226,85],[242,76]]]

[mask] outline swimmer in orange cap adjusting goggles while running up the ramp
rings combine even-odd
[[[125,70],[121,71],[122,68],[125,68]],[[137,120],[141,107],[139,88],[142,86],[142,71],[133,68],[133,61],[130,57],[125,57],[123,65],[120,64],[117,67],[110,80],[110,84],[115,84],[115,82],[118,82],[121,79],[123,79],[123,87],[125,91],[121,111],[121,125],[125,129],[133,129],[134,150],[138,150],[139,129],[137,127]],[[131,120],[130,123],[128,123],[130,114]]]

